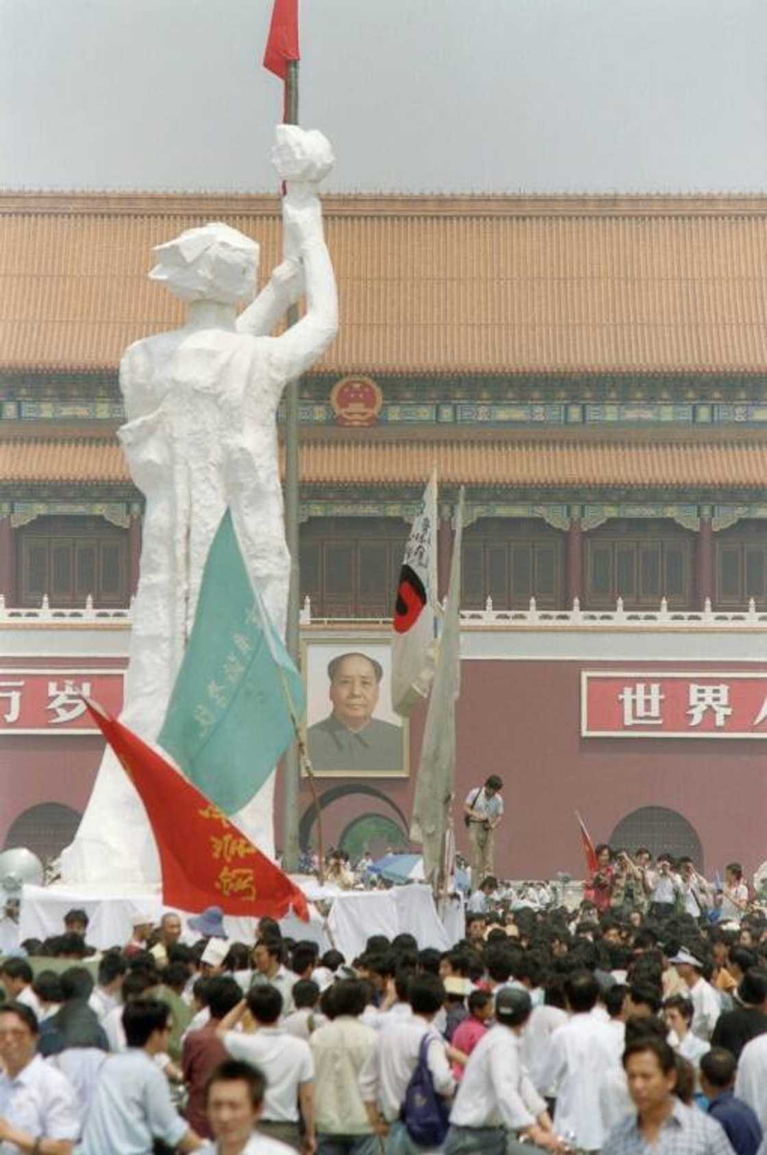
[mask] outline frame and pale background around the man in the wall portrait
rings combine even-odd
[[[328,663],[334,657],[350,653],[359,653],[371,657],[379,662],[384,670],[373,718],[395,725],[401,730],[401,768],[327,768],[327,763],[323,761],[320,765],[314,765],[314,759],[312,759],[314,776],[318,778],[409,778],[410,723],[408,718],[401,718],[392,709],[392,646],[386,634],[344,634],[333,638],[303,639],[301,672],[306,690],[306,735],[310,758],[312,758],[311,729],[315,723],[326,721],[333,709],[328,696],[330,688],[327,672]]]

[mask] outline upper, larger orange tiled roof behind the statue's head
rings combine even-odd
[[[181,307],[151,246],[206,219],[278,259],[265,196],[0,195],[0,367],[113,370]],[[767,198],[326,201],[332,373],[767,370]]]

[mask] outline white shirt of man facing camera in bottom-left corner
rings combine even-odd
[[[42,1135],[74,1141],[80,1134],[74,1088],[39,1055],[13,1078],[0,1074],[0,1116],[33,1139]],[[18,1148],[1,1142],[0,1155],[18,1155]]]

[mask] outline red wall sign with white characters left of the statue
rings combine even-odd
[[[98,733],[81,695],[122,708],[122,670],[0,670],[0,735]]]

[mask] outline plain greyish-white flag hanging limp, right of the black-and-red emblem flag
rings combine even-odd
[[[445,862],[455,792],[455,702],[461,688],[461,539],[463,490],[455,517],[447,609],[420,747],[410,837],[423,843],[424,875],[435,886]]]

